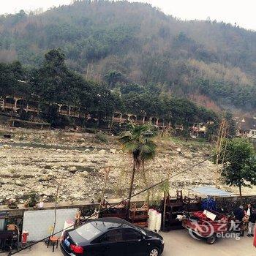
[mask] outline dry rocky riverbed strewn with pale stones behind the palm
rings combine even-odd
[[[3,138],[9,132],[12,138]],[[106,197],[125,197],[129,187],[132,159],[121,150],[117,138],[101,142],[92,134],[15,129],[1,131],[0,203],[16,198],[21,203],[34,191],[45,201],[88,200],[102,195],[105,173],[110,167]],[[157,157],[146,164],[146,180],[140,170],[135,177],[135,192],[185,170],[208,157],[208,144],[157,140]],[[170,189],[189,189],[214,183],[214,165],[207,160],[197,167],[170,178]],[[151,197],[161,196],[151,190]]]

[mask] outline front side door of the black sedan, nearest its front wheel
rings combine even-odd
[[[148,242],[142,233],[132,228],[122,230],[125,256],[143,256],[148,252]]]

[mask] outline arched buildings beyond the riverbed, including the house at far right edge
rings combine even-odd
[[[86,120],[95,119],[93,118],[84,108],[78,108],[75,106],[64,105],[64,104],[53,104],[60,115],[69,116],[71,118],[84,118]],[[23,97],[0,97],[0,108],[4,113],[14,113],[19,115],[21,111],[29,113],[31,120],[37,120],[39,116],[39,103],[34,101],[26,101]],[[170,129],[170,121],[165,121],[162,118],[146,115],[135,115],[135,114],[124,114],[116,112],[113,115],[113,122],[120,125],[127,124],[129,121],[133,121],[135,124],[153,124],[155,127],[160,129]],[[238,136],[250,137],[256,139],[256,117],[244,117],[237,118],[238,124]],[[182,130],[184,127],[176,126],[175,129]],[[199,137],[206,134],[206,124],[190,124],[190,132],[192,137]]]

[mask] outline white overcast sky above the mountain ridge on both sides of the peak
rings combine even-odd
[[[148,2],[163,12],[184,20],[211,20],[237,23],[246,29],[256,30],[256,0],[131,0]],[[19,10],[35,10],[59,4],[70,4],[71,0],[0,0],[0,13]]]

